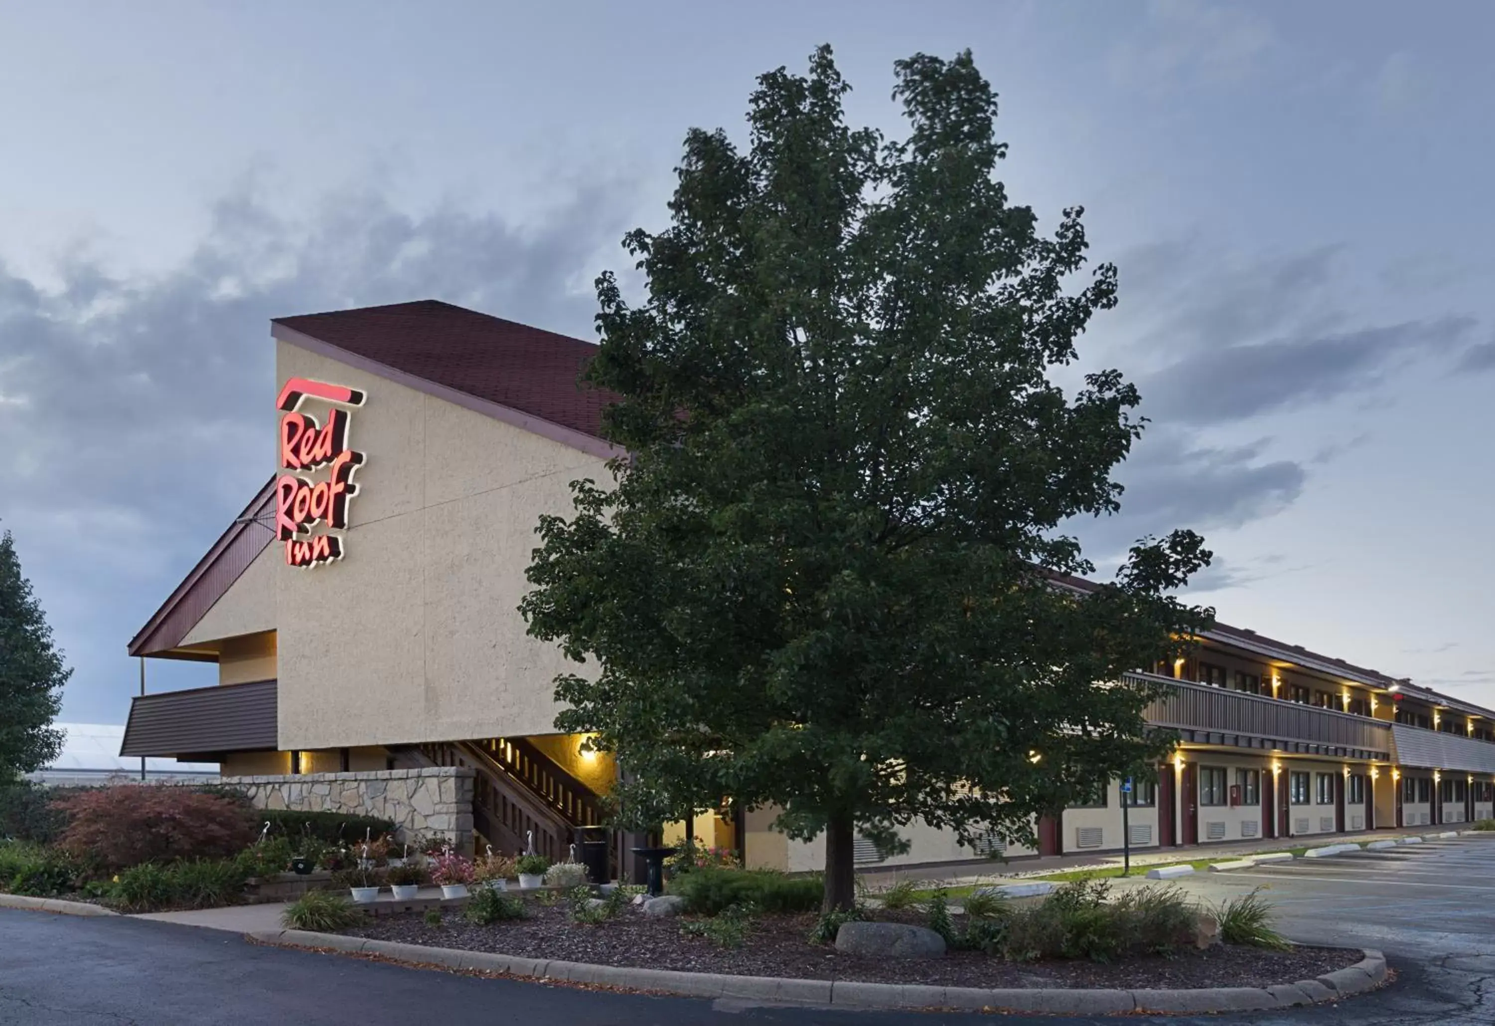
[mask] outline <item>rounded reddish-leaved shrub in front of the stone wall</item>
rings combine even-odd
[[[67,827],[60,848],[106,871],[172,859],[226,859],[254,841],[241,803],[187,787],[123,784],[58,802]]]

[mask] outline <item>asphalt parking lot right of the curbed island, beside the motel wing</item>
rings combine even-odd
[[[1399,974],[1389,990],[1340,1008],[1278,1019],[1257,1014],[1251,1022],[1495,1023],[1495,835],[1434,838],[1174,883],[1209,902],[1260,887],[1293,941],[1380,948]]]

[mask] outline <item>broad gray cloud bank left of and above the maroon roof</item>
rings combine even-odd
[[[123,717],[124,644],[269,473],[272,317],[434,297],[592,338],[631,188],[579,190],[528,230],[368,193],[290,221],[238,194],[148,281],[0,266],[0,518],[76,668],[66,715]]]

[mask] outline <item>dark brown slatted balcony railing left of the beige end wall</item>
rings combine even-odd
[[[275,681],[142,694],[121,756],[211,756],[275,748]]]

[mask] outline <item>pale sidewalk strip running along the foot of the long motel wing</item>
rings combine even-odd
[[[1368,841],[1384,841],[1389,838],[1420,833],[1429,829],[1468,829],[1468,823],[1455,823],[1449,827],[1404,827],[1401,830],[1362,830],[1357,833],[1314,833],[1296,838],[1275,838],[1265,841],[1238,841],[1232,844],[1196,844],[1183,848],[1139,848],[1132,853],[1132,866],[1171,866],[1181,862],[1226,862],[1244,854],[1263,851],[1287,851],[1290,848],[1320,848],[1331,844],[1365,844]],[[921,883],[942,884],[946,887],[964,887],[970,884],[1012,883],[1026,877],[1046,877],[1052,872],[1070,872],[1075,869],[1109,869],[1121,865],[1121,853],[1106,851],[1103,854],[1064,854],[1045,856],[1039,859],[1021,859],[1009,863],[991,862],[990,869],[969,865],[958,868],[942,866],[888,866],[875,872],[861,874],[872,887],[885,887],[898,880],[918,880]]]

